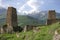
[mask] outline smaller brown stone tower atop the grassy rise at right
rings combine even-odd
[[[56,12],[55,10],[49,10],[48,11],[48,18],[47,18],[47,25],[50,25],[52,23],[56,22]]]

